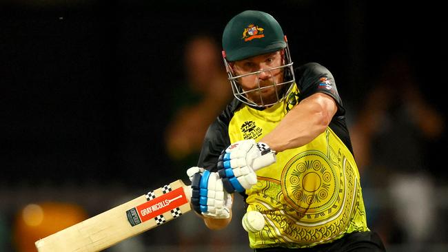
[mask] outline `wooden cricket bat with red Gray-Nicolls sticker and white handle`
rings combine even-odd
[[[275,162],[274,152],[254,160],[254,170]],[[178,218],[191,210],[191,187],[182,180],[125,202],[35,242],[39,252],[93,252]]]

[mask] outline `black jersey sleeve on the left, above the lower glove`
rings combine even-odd
[[[201,154],[198,159],[198,167],[209,171],[217,171],[216,165],[221,152],[230,145],[229,124],[234,114],[234,109],[241,103],[232,101],[230,105],[214,120],[205,134]]]

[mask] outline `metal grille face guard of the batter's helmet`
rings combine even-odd
[[[286,43],[286,45],[287,45],[287,43]],[[227,70],[227,76],[230,81],[230,84],[232,85],[232,92],[234,93],[235,98],[237,98],[239,101],[241,101],[247,105],[250,105],[253,107],[260,107],[260,108],[270,107],[272,105],[280,103],[285,98],[287,98],[289,96],[289,93],[292,91],[295,77],[294,77],[294,68],[292,67],[293,62],[291,59],[291,55],[289,53],[288,46],[286,46],[286,48],[284,49],[284,52],[285,53],[284,53],[283,65],[280,65],[278,67],[272,67],[272,68],[269,68],[266,70],[250,72],[248,74],[241,74],[241,75],[236,75],[236,73],[234,72],[229,61],[227,61],[227,59],[225,57],[225,52],[223,52],[225,69]],[[276,83],[276,81],[274,80],[274,74],[272,74],[273,70],[281,70],[283,72],[283,79],[280,83]],[[243,90],[241,85],[238,83],[239,79],[241,79],[243,77],[251,76],[251,75],[257,76],[258,74],[261,74],[262,72],[270,72],[271,73],[270,76],[272,76],[271,77],[272,85],[261,87],[260,79],[256,78],[258,80],[257,81],[258,85],[256,85],[256,87],[254,89]],[[272,87],[274,87],[274,90],[275,90],[276,101],[274,101],[274,102],[263,101],[263,96],[261,95],[262,94],[261,90],[264,90],[267,88],[272,88]],[[250,99],[247,94],[258,94],[258,97],[259,97],[258,102]]]

